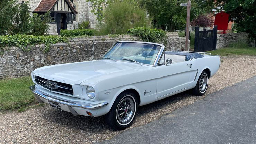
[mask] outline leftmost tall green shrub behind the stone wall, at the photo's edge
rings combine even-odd
[[[12,34],[18,11],[16,0],[0,1],[0,35]]]

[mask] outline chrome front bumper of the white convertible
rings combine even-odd
[[[65,101],[65,100],[54,98],[54,97],[46,95],[43,92],[40,92],[38,90],[33,90],[32,92],[36,96],[42,97],[43,99],[46,99],[46,100],[49,100],[49,101],[57,102],[57,103],[67,105],[67,106],[72,106],[72,107],[82,107],[84,109],[98,109],[100,107],[107,106],[109,104],[107,102],[103,102],[103,103],[99,103],[99,104],[91,104],[91,103],[85,103],[85,102],[75,103],[75,102],[70,102],[70,101]],[[78,104],[78,103],[80,103],[80,104]]]

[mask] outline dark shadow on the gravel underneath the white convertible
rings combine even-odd
[[[151,115],[150,113],[154,111],[162,109],[167,105],[180,102],[181,100],[187,99],[188,97],[192,97],[192,96],[193,95],[191,95],[190,91],[185,91],[180,94],[176,94],[171,97],[167,97],[165,99],[153,102],[151,104],[141,106],[137,111],[137,116],[141,117],[148,114]],[[44,115],[42,116],[43,116],[43,119],[47,120],[49,123],[54,123],[68,129],[80,130],[85,133],[86,131],[90,131],[90,133],[102,133],[104,132],[104,130],[110,130],[110,128],[107,126],[105,122],[104,116],[95,117],[95,118],[82,116],[82,115],[73,116],[69,112],[59,111],[53,108],[47,108]],[[141,121],[141,119],[139,121]],[[139,123],[143,123],[143,122],[139,122]],[[111,130],[111,131],[114,131],[114,130]]]

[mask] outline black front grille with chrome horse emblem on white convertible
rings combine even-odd
[[[47,88],[51,91],[71,94],[71,95],[74,94],[72,85],[70,84],[47,80],[39,76],[35,76],[35,82],[37,82],[38,85],[41,85],[44,88]]]

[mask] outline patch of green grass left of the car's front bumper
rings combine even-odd
[[[29,89],[32,84],[30,76],[0,80],[0,111],[17,108],[21,108],[19,111],[24,111],[25,106],[35,101]]]

